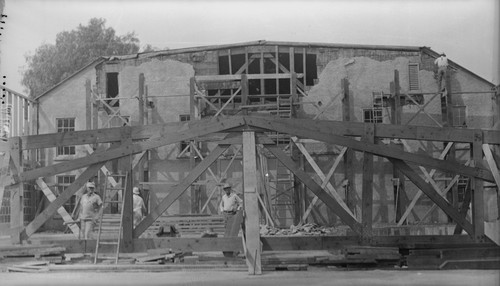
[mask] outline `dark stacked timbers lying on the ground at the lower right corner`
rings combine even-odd
[[[500,247],[410,250],[409,269],[500,269]]]

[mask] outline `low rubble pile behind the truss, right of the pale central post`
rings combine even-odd
[[[302,235],[345,235],[345,227],[326,227],[314,223],[304,225],[291,225],[290,228],[276,228],[269,225],[260,226],[262,236],[302,236]]]

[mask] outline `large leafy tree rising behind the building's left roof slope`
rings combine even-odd
[[[43,44],[33,55],[25,55],[27,69],[22,84],[36,97],[101,56],[133,54],[139,51],[135,34],[117,36],[106,20],[92,18],[87,26],[57,34],[55,44]]]

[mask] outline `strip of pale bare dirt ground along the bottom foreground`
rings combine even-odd
[[[0,273],[0,285],[500,285],[499,270],[363,270],[266,272],[248,275],[243,271],[175,272],[57,272]]]

